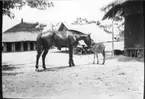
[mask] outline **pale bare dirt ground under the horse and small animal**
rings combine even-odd
[[[100,63],[102,57],[100,55]],[[2,53],[2,86],[6,98],[143,99],[144,60],[106,55],[105,65],[92,64],[93,55],[50,50],[46,67],[35,71],[36,51]]]

